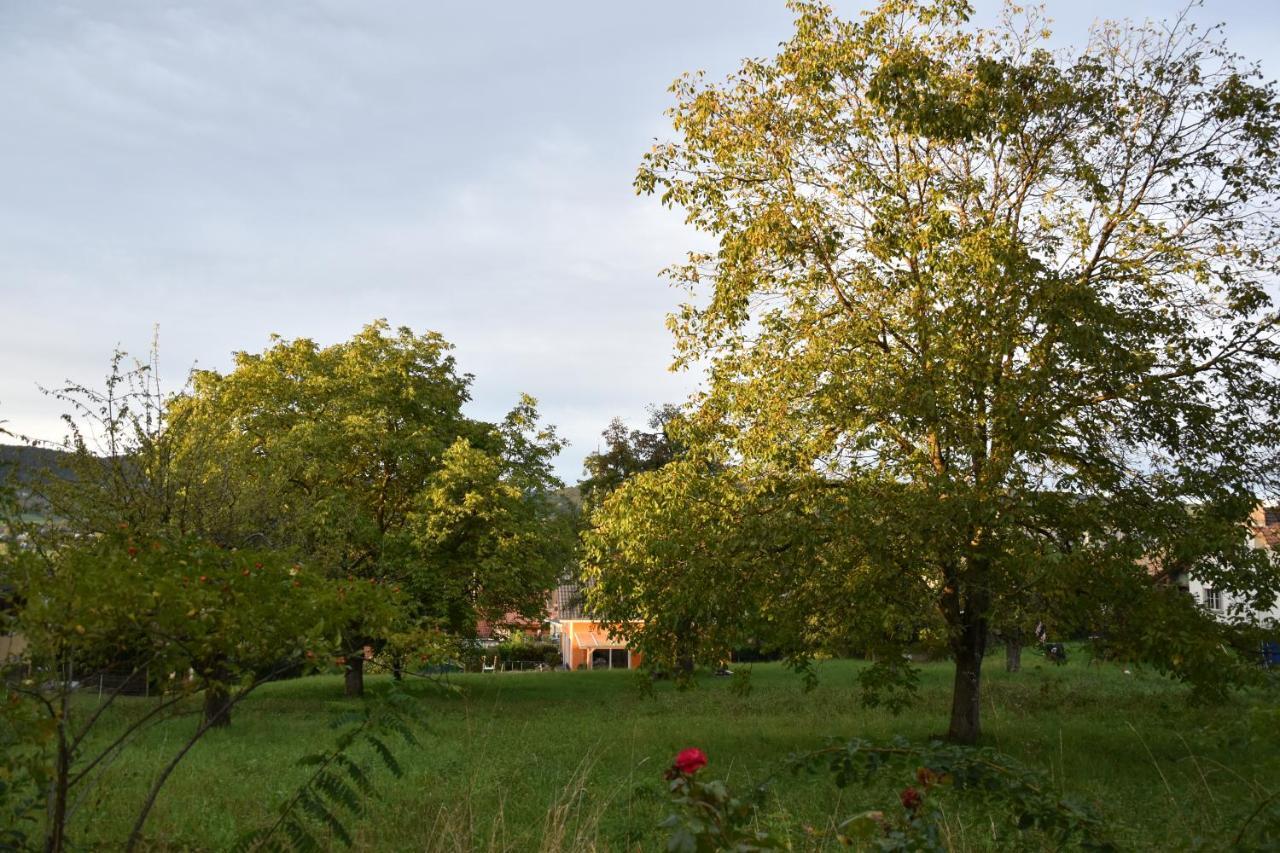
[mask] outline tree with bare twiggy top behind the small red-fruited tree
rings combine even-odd
[[[264,562],[294,565],[296,555],[261,548],[270,544],[270,537],[262,535],[264,520],[271,517],[276,497],[270,483],[251,476],[244,460],[237,459],[234,443],[227,441],[225,423],[204,418],[189,397],[164,393],[157,360],[155,347],[145,362],[131,364],[125,352],[116,351],[101,388],[68,383],[47,392],[69,407],[64,415],[68,435],[61,444],[65,456],[56,469],[33,478],[35,496],[51,514],[51,523],[19,525],[28,546],[38,546],[44,569],[28,571],[12,583],[27,602],[18,612],[26,621],[41,611],[37,605],[44,603],[47,611],[50,602],[63,606],[64,620],[73,622],[87,619],[78,608],[110,612],[116,601],[95,599],[115,596],[128,601],[127,594],[118,592],[119,584],[140,596],[164,597],[166,607],[152,616],[151,628],[156,628],[161,616],[179,613],[163,633],[163,642],[182,656],[182,666],[170,666],[170,671],[195,674],[192,684],[204,692],[205,722],[219,727],[230,724],[229,699],[236,681],[256,667],[288,657],[288,643],[282,644],[278,628],[293,629],[293,622],[285,619],[278,619],[278,626],[253,621],[255,617],[270,621],[273,608],[280,605],[269,590],[247,589],[250,581],[239,576],[234,583],[219,579],[229,570],[232,555],[238,552],[243,562],[244,555],[251,553],[243,551],[246,546],[259,546],[259,558],[251,561],[256,562],[255,578],[261,575]],[[129,539],[127,561],[123,561],[122,532]],[[147,560],[140,561],[140,552]],[[137,565],[131,567],[131,564]],[[234,566],[236,573],[242,567]],[[106,576],[100,576],[104,571]],[[146,589],[138,592],[128,587],[131,578],[113,573],[131,575],[134,584],[142,583]],[[214,579],[207,589],[220,590],[210,592],[218,601],[197,602],[196,590],[183,596],[173,589],[161,593],[166,584],[180,580],[187,585],[197,576],[200,587]],[[250,576],[246,570],[244,578]],[[69,587],[61,589],[55,583],[54,589],[45,589],[45,581]],[[292,585],[301,585],[301,580]],[[293,596],[291,607],[302,615],[306,610],[300,598],[301,594]],[[145,601],[152,603],[151,598]],[[366,603],[367,608],[356,607],[352,612],[387,619],[385,608]],[[141,606],[132,602],[128,607]],[[141,607],[140,613],[150,610]],[[56,620],[26,625],[23,634],[33,649],[29,662],[55,672],[73,665],[84,671],[83,656],[65,661],[60,657],[56,649],[68,644],[58,639],[58,630],[68,628],[59,626]],[[202,637],[200,643],[188,635],[196,630]],[[161,642],[134,634],[110,625],[102,640],[114,643],[110,646],[114,652],[92,663],[118,669],[140,648]],[[284,635],[289,637],[293,635]],[[37,642],[40,638],[45,639],[42,644]],[[163,661],[159,663],[163,669]],[[151,663],[143,669],[151,669]]]

